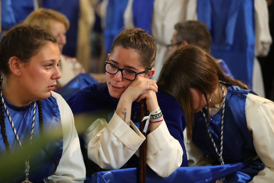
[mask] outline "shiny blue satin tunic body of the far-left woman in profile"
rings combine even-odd
[[[33,116],[33,102],[27,106],[17,107],[7,101],[5,98],[5,104],[8,108],[9,114],[13,121],[14,127],[16,128],[19,140],[24,147],[30,142],[30,129],[32,124]],[[51,133],[52,130],[60,129],[62,130],[60,111],[56,102],[56,99],[50,96],[47,99],[41,100],[42,113],[43,113],[43,127],[44,133]],[[16,142],[15,135],[13,134],[12,127],[9,123],[9,120],[5,114],[5,126],[6,134],[8,137],[9,147],[11,152],[19,149],[19,145]],[[36,106],[35,114],[35,124],[33,131],[33,139],[39,138],[39,115],[38,115],[38,106]],[[56,138],[52,141],[47,142],[45,145],[47,151],[55,158],[57,165],[60,161],[62,152],[63,152],[63,139],[62,137]],[[5,144],[3,142],[2,135],[0,136],[0,152],[6,153]],[[16,173],[16,179],[18,181],[25,180],[25,168],[24,164],[18,165],[20,172]],[[44,178],[50,176],[55,169],[54,161],[52,158],[47,155],[44,150],[33,152],[30,155],[30,172],[29,180],[32,182],[43,181]],[[20,181],[20,182],[21,182]]]

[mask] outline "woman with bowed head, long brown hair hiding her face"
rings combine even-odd
[[[274,182],[272,101],[225,76],[213,57],[194,45],[178,48],[167,59],[157,85],[185,114],[190,166],[252,160],[223,182]]]

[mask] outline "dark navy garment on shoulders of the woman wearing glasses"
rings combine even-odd
[[[181,166],[188,166],[183,135],[186,122],[182,109],[179,103],[172,96],[162,92],[161,88],[158,89],[156,96],[170,134],[180,142],[183,148],[184,155]],[[118,104],[118,100],[109,94],[106,83],[91,84],[73,94],[67,102],[73,113],[113,111]],[[138,102],[132,102],[131,119],[138,127],[140,122],[140,104]]]

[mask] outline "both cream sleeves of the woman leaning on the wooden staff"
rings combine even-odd
[[[131,128],[131,127],[132,128]],[[145,136],[130,121],[128,126],[116,113],[110,122],[105,119],[94,121],[84,134],[88,157],[103,169],[121,168],[135,153]],[[183,149],[173,138],[165,121],[147,135],[146,163],[159,176],[167,177],[181,166]]]

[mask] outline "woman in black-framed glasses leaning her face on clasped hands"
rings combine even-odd
[[[178,102],[149,79],[156,57],[154,39],[135,28],[123,30],[113,42],[105,61],[106,82],[92,84],[68,99],[73,113],[114,110],[111,120],[97,119],[84,134],[90,160],[103,169],[136,167],[134,154],[145,137],[136,125],[140,121],[139,101],[146,99],[149,127],[149,167],[167,177],[180,166],[188,166],[184,146],[185,119]],[[134,160],[133,160],[134,159]]]

